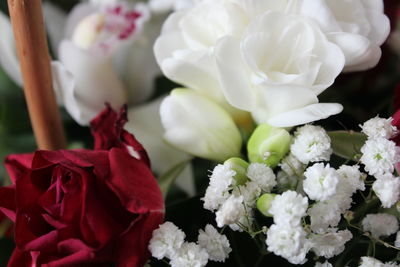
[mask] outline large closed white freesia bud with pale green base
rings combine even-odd
[[[175,89],[160,108],[165,140],[198,157],[225,161],[240,155],[242,137],[230,115],[193,90]]]

